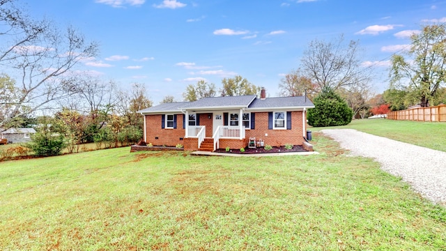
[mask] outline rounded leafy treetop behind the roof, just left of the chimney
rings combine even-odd
[[[256,86],[242,76],[222,79],[222,96],[258,95],[261,87]]]

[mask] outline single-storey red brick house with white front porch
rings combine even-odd
[[[144,115],[145,142],[153,146],[182,144],[189,151],[215,151],[226,146],[240,149],[253,142],[302,145],[309,108],[314,104],[305,96],[266,98],[262,89],[261,98],[202,98],[164,103],[139,112]]]

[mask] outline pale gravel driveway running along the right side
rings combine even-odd
[[[412,185],[427,199],[446,204],[446,152],[427,149],[353,129],[321,130],[352,155],[374,158],[381,169]]]

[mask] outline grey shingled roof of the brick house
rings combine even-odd
[[[277,97],[260,99],[255,95],[247,96],[224,96],[201,98],[194,102],[171,102],[163,103],[154,107],[149,107],[138,111],[141,114],[166,114],[174,112],[203,111],[203,110],[228,110],[246,109],[252,111],[268,111],[277,109],[302,110],[304,108],[314,108],[314,104],[305,96],[298,97]]]

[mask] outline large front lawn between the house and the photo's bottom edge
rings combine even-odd
[[[109,149],[0,163],[0,250],[446,250],[446,209],[320,155]]]

